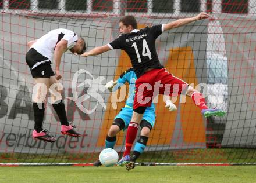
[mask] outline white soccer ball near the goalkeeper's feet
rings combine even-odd
[[[118,153],[111,148],[104,149],[99,154],[99,161],[103,166],[113,166],[118,163]]]

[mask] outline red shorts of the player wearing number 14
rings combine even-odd
[[[136,80],[133,109],[149,107],[152,98],[158,94],[177,96],[186,91],[188,86],[186,82],[176,78],[165,68],[152,69]]]

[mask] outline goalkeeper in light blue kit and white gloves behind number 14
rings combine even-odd
[[[129,97],[126,101],[125,107],[122,108],[122,110],[119,112],[118,115],[116,115],[114,122],[112,123],[108,134],[106,136],[105,140],[105,148],[114,148],[116,144],[116,134],[119,133],[120,130],[127,129],[131,116],[133,115],[133,98],[134,98],[134,87],[136,82],[136,74],[133,70],[133,68],[127,69],[123,74],[120,75],[118,80],[115,82],[110,81],[106,84],[106,87],[109,89],[109,91],[112,92],[112,90],[117,90],[120,86],[125,84],[126,82],[129,83]],[[115,85],[117,84],[117,85]],[[115,87],[114,87],[115,85]],[[169,108],[170,111],[176,111],[176,106],[172,104],[171,101],[166,101],[166,107]],[[147,107],[145,110],[145,113],[143,115],[143,118],[140,123],[140,138],[138,138],[137,143],[134,147],[133,156],[131,159],[136,162],[138,157],[143,153],[148,137],[150,135],[150,131],[152,127],[154,127],[155,123],[155,105],[152,103],[150,107]],[[118,164],[118,166],[122,166],[125,164],[125,160]],[[128,163],[128,162],[127,162]],[[97,160],[94,162],[94,166],[101,166],[101,162]]]

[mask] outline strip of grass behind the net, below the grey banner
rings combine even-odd
[[[0,163],[93,163],[99,153],[0,153]],[[138,163],[256,163],[255,149],[215,148],[144,152]],[[255,181],[256,182],[256,181]]]

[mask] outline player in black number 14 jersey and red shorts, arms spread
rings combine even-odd
[[[138,126],[143,117],[145,108],[150,106],[155,89],[158,88],[160,94],[166,94],[169,90],[169,96],[177,96],[186,92],[197,105],[205,117],[223,116],[225,111],[219,109],[209,109],[205,104],[204,97],[200,92],[189,86],[182,79],[176,78],[170,74],[159,63],[157,51],[155,49],[155,40],[163,31],[186,25],[193,21],[207,19],[209,14],[200,13],[195,17],[179,19],[167,24],[154,25],[137,30],[137,21],[133,16],[125,16],[119,20],[120,36],[105,46],[95,47],[82,54],[81,56],[95,56],[113,49],[122,49],[129,55],[131,64],[137,75],[136,94],[133,103],[133,117],[129,123],[126,134],[126,145],[123,158],[118,162],[119,165],[125,165],[127,170],[134,168],[133,159],[130,159],[130,151],[136,138]],[[146,89],[144,89],[146,87]],[[158,94],[157,93],[157,94]],[[169,107],[167,103],[166,107]],[[128,163],[127,163],[128,162]]]

